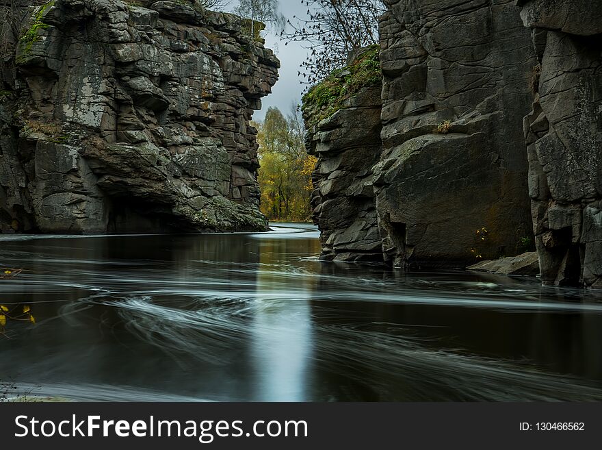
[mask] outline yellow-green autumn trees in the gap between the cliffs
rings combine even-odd
[[[305,151],[298,108],[287,118],[278,108],[270,108],[265,121],[254,125],[259,131],[261,212],[271,221],[309,220],[316,158]]]

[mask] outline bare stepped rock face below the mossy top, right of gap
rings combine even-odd
[[[382,260],[372,166],[380,160],[380,87],[366,88],[309,134],[318,158],[313,173],[313,220],[322,259]]]

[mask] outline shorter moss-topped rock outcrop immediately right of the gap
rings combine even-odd
[[[324,260],[382,260],[372,186],[372,167],[382,153],[378,66],[378,49],[366,49],[304,97],[304,118],[313,123],[306,147],[318,158],[311,204]],[[348,92],[356,80],[361,87],[337,105],[339,92]]]

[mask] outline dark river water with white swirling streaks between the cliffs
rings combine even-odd
[[[92,401],[602,400],[602,293],[265,234],[0,236],[0,379]],[[1,394],[1,392],[0,392]]]

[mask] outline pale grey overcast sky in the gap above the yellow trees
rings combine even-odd
[[[280,0],[280,11],[283,15],[293,21],[293,16],[305,17],[307,7],[300,0]],[[305,88],[299,84],[301,77],[297,75],[300,64],[307,56],[307,50],[302,48],[299,42],[285,42],[280,40],[277,32],[268,30],[265,35],[265,47],[274,50],[280,60],[280,79],[272,89],[272,94],[263,97],[263,108],[253,114],[253,120],[263,121],[265,112],[270,106],[276,106],[280,111],[289,114],[293,103],[300,103],[301,92]]]

